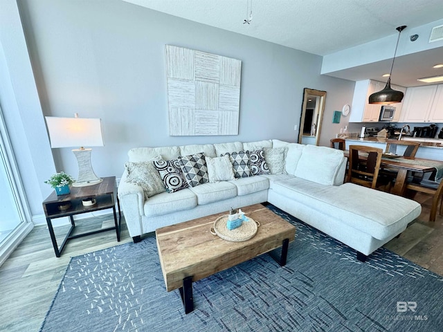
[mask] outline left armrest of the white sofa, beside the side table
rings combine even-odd
[[[137,237],[143,234],[141,216],[145,214],[143,205],[145,204],[145,194],[143,189],[135,183],[126,181],[127,171],[123,173],[118,185],[118,199],[125,216],[129,235]]]

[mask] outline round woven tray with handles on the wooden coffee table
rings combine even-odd
[[[219,216],[214,221],[213,227],[210,228],[210,232],[213,235],[218,235],[221,239],[231,242],[242,242],[252,239],[257,233],[257,229],[260,226],[258,221],[248,218],[248,221],[243,221],[240,227],[228,230],[228,214]]]

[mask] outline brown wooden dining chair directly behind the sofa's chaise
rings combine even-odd
[[[379,169],[383,149],[365,145],[349,146],[349,169],[347,182],[376,189],[379,183]]]

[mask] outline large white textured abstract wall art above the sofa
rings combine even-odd
[[[242,62],[166,45],[170,136],[238,135]]]

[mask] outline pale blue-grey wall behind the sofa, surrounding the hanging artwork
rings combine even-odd
[[[99,176],[119,177],[132,147],[294,142],[305,87],[327,91],[320,144],[344,127],[332,124],[332,113],[352,102],[354,82],[320,76],[317,55],[118,0],[23,0],[19,9],[43,115],[102,118],[105,147],[92,156]],[[242,60],[239,135],[169,136],[165,44]],[[36,129],[44,134],[40,123]],[[58,171],[77,176],[70,149],[53,156]]]

